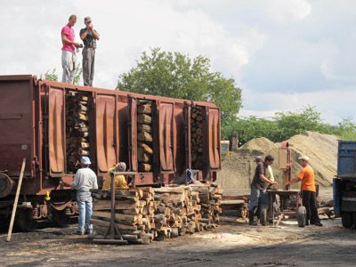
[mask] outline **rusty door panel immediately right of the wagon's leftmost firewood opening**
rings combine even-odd
[[[96,149],[98,169],[106,173],[117,163],[117,115],[115,95],[96,95]]]

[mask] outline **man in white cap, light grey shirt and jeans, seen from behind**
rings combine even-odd
[[[79,210],[77,234],[93,233],[93,225],[90,219],[93,214],[93,198],[91,189],[98,189],[96,174],[89,168],[92,164],[90,158],[80,158],[81,168],[77,170],[74,182],[70,187],[77,190],[77,205]]]

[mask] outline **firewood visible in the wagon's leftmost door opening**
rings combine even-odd
[[[80,157],[89,157],[88,97],[71,92],[66,99],[67,171],[74,173]]]

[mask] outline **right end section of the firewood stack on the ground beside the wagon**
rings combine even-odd
[[[190,188],[199,194],[201,222],[206,223],[207,228],[214,228],[220,222],[219,215],[222,214],[223,189],[214,183],[192,184]]]

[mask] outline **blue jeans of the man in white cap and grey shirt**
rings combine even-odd
[[[90,219],[93,214],[93,201],[90,192],[77,192],[77,205],[79,210],[77,231],[93,231]]]

